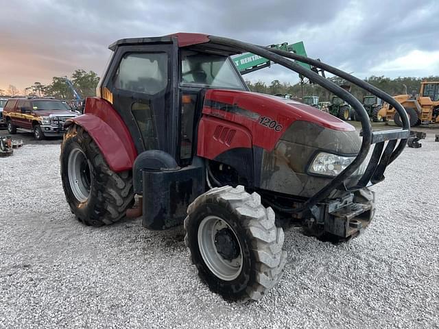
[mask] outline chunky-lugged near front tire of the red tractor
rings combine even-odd
[[[198,275],[211,291],[226,300],[259,300],[281,279],[287,260],[287,252],[282,249],[283,230],[276,228],[274,211],[261,205],[257,193],[250,195],[243,186],[213,188],[195,199],[187,212],[185,243]],[[202,256],[198,234],[202,222],[209,217],[224,221],[230,236],[235,236],[235,245],[241,250],[241,267],[236,271],[236,278],[223,280],[213,273]],[[219,254],[221,251],[216,244],[219,232],[222,230],[215,234],[213,257],[216,255],[224,263],[227,258]]]

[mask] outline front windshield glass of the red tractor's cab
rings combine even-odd
[[[195,51],[182,53],[182,84],[247,90],[227,56],[205,55]]]

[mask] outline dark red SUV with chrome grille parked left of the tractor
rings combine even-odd
[[[77,116],[65,102],[47,98],[12,98],[3,109],[10,134],[16,134],[17,130],[32,132],[37,140],[62,136],[64,122]]]

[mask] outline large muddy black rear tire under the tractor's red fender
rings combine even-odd
[[[86,200],[75,196],[69,179],[69,156],[78,152],[84,155],[88,163],[88,172],[83,174],[90,187]],[[115,223],[126,215],[134,199],[132,172],[112,171],[99,147],[79,125],[71,125],[64,135],[60,162],[62,188],[71,212],[79,221],[86,225],[103,226]]]

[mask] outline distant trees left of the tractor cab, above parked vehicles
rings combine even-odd
[[[74,99],[73,91],[66,81],[67,77],[53,77],[51,84],[42,84],[34,82],[32,86],[28,86],[23,90],[19,90],[14,85],[10,84],[8,90],[1,90],[0,95],[5,97],[55,97],[56,99],[70,100]],[[80,97],[96,95],[96,86],[99,82],[99,77],[93,71],[84,71],[82,69],[75,70],[71,77],[73,87],[80,94]]]

